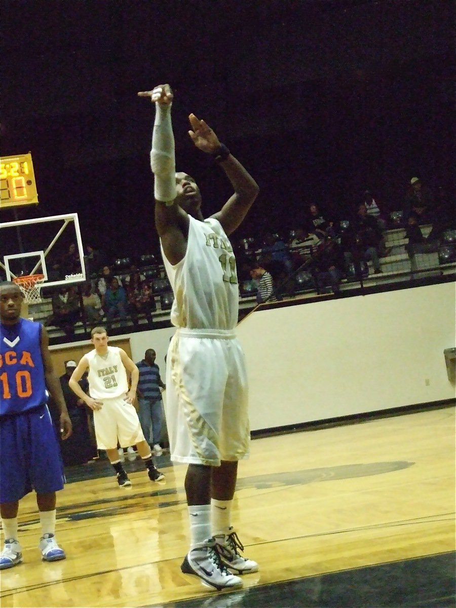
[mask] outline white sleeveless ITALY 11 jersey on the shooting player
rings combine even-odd
[[[185,257],[173,266],[162,248],[174,292],[171,323],[190,330],[232,330],[239,308],[233,248],[218,220],[188,217]]]

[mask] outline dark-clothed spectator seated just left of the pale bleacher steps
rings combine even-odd
[[[382,244],[382,233],[374,218],[367,215],[365,204],[358,207],[356,219],[350,222],[341,239],[345,266],[354,263],[355,268],[361,260],[371,260],[374,274],[381,273],[379,248]]]

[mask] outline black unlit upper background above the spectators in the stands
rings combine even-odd
[[[206,215],[230,188],[189,112],[260,184],[239,237],[297,227],[311,202],[343,218],[366,187],[399,209],[415,175],[454,192],[454,16],[446,0],[5,2],[1,152],[32,151],[40,198],[19,218],[77,212],[85,243],[156,252],[136,92],[163,82]]]

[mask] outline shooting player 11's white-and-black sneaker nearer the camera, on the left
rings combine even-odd
[[[181,570],[184,574],[199,576],[202,584],[206,587],[215,587],[217,590],[233,589],[243,585],[239,576],[234,576],[224,566],[213,538],[188,551]]]

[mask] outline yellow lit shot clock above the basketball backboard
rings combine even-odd
[[[0,159],[0,209],[38,204],[32,154]]]

